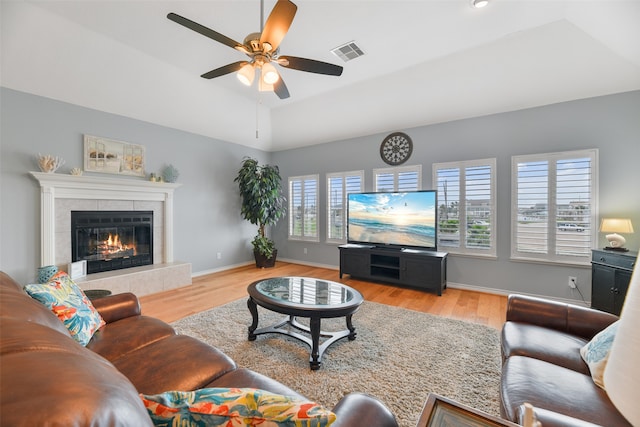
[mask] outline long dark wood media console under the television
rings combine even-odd
[[[447,252],[386,249],[347,244],[340,248],[340,278],[411,286],[442,295],[447,287]]]

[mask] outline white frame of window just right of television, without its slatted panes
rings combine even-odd
[[[476,167],[484,167],[488,166],[490,168],[490,198],[489,198],[489,227],[490,235],[489,235],[489,247],[488,248],[477,248],[468,245],[467,241],[467,174],[466,171],[469,168]],[[445,250],[451,254],[456,255],[465,255],[465,256],[474,256],[474,257],[482,257],[482,258],[497,258],[497,206],[498,206],[498,191],[497,191],[497,161],[496,158],[487,158],[487,159],[477,159],[477,160],[463,160],[463,161],[455,161],[455,162],[443,162],[443,163],[433,163],[432,165],[432,182],[433,187],[438,193],[440,193],[439,188],[439,180],[438,180],[438,172],[444,169],[457,169],[459,174],[459,200],[458,200],[458,230],[465,230],[464,235],[461,235],[458,232],[459,240],[458,246],[446,246],[440,244],[441,238],[441,230],[440,230],[440,221],[442,218],[438,217],[438,249]],[[440,209],[440,205],[443,203],[442,200],[438,199],[438,209]]]

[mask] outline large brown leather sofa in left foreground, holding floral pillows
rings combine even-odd
[[[106,321],[83,347],[63,323],[0,272],[0,425],[150,426],[139,393],[255,387],[302,397],[140,312],[135,295],[96,299]],[[319,373],[320,374],[320,373]],[[397,427],[377,399],[349,394],[335,427]]]

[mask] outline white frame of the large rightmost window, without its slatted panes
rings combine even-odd
[[[589,239],[584,245],[585,253],[581,256],[558,254],[558,162],[589,158]],[[542,252],[526,252],[518,249],[518,221],[519,221],[519,173],[518,165],[523,163],[548,162],[547,168],[547,248]],[[511,157],[511,259],[514,261],[542,262],[550,264],[587,266],[591,263],[591,248],[597,246],[598,231],[597,218],[599,211],[599,151],[596,148],[562,151],[555,153],[527,154]],[[553,214],[552,214],[553,213]],[[584,230],[586,231],[586,230]]]

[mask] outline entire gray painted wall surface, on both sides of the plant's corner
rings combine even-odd
[[[175,193],[175,258],[193,264],[194,273],[215,271],[252,260],[255,227],[239,215],[233,182],[244,156],[280,167],[289,176],[320,175],[319,243],[287,240],[287,221],[273,230],[279,257],[303,263],[338,266],[338,249],[324,242],[328,172],[363,169],[366,190],[372,169],[386,167],[378,150],[385,134],[266,153],[127,117],[95,111],[2,88],[0,269],[21,282],[32,280],[40,257],[40,195],[28,175],[37,170],[37,153],[63,157],[61,172],[82,165],[82,135],[91,134],[142,144],[147,170],[167,163],[180,171]],[[629,217],[636,233],[628,247],[640,247],[640,91],[544,106],[475,119],[403,130],[414,141],[408,164],[422,164],[423,188],[432,188],[434,162],[497,158],[498,259],[452,256],[449,281],[463,286],[580,299],[567,287],[577,276],[590,299],[588,268],[550,266],[509,260],[510,167],[517,154],[599,148],[600,216]],[[605,239],[599,236],[599,246]],[[305,255],[303,249],[307,248]],[[222,252],[221,260],[216,253]]]

